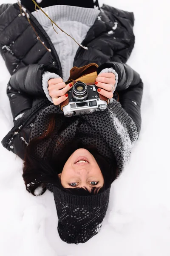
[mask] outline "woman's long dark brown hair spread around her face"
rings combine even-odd
[[[53,114],[51,115],[48,129],[40,137],[31,140],[26,148],[23,166],[23,179],[28,192],[32,193],[33,195],[37,195],[34,193],[34,191],[37,189],[37,187],[41,187],[41,191],[38,195],[42,195],[45,192],[46,187],[48,187],[49,190],[52,190],[50,189],[52,186],[57,186],[58,188],[63,189],[65,192],[76,195],[92,195],[97,192],[102,192],[104,189],[110,187],[113,180],[115,180],[117,177],[117,164],[115,158],[113,157],[111,164],[107,157],[103,157],[101,154],[99,154],[96,147],[92,145],[82,145],[80,140],[73,140],[69,143],[69,145],[65,145],[64,148],[61,148],[55,159],[50,157],[48,160],[44,160],[37,157],[37,155],[34,153],[34,148],[52,134],[54,131],[54,125],[55,115]],[[92,188],[91,192],[89,192],[86,188],[64,189],[62,187],[58,174],[62,172],[65,162],[78,148],[87,149],[96,159],[96,162],[98,163],[104,177],[104,186],[101,189]]]

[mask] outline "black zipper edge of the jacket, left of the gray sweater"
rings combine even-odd
[[[17,3],[14,3],[14,8],[16,8],[20,14],[20,7]],[[31,20],[31,24],[34,26],[37,34],[40,36],[41,40],[45,42],[45,45],[51,49],[51,55],[54,58],[54,61],[56,61],[57,63],[57,70],[59,72],[59,76],[62,78],[62,66],[61,66],[61,62],[59,60],[59,56],[56,52],[56,49],[54,48],[53,43],[51,42],[49,36],[47,35],[47,33],[45,32],[45,30],[42,28],[42,26],[40,25],[40,23],[37,21],[37,19],[27,10],[28,15],[30,16],[30,20]],[[43,39],[42,39],[43,38]]]

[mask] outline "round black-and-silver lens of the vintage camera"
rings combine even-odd
[[[88,97],[88,87],[83,82],[77,82],[73,85],[72,97],[76,101],[84,101]]]

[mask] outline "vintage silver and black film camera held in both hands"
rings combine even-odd
[[[62,107],[66,117],[104,111],[108,106],[106,100],[100,99],[95,84],[87,85],[81,81],[77,81],[68,91],[67,103]]]

